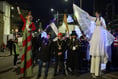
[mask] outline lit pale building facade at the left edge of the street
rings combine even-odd
[[[7,36],[10,34],[10,10],[10,4],[0,1],[0,45],[7,43]]]

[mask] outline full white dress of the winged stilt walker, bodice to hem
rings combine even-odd
[[[91,56],[107,56],[106,39],[107,31],[106,24],[102,17],[96,18],[96,28],[90,41]]]

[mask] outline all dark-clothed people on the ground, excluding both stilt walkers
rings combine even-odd
[[[46,33],[46,32],[45,32]],[[89,55],[90,44],[85,35],[78,37],[76,31],[72,31],[69,37],[58,33],[57,40],[51,38],[50,33],[41,37],[35,34],[32,37],[32,62],[33,66],[39,65],[38,76],[42,73],[43,63],[45,63],[45,76],[48,76],[49,67],[54,65],[54,76],[58,74],[77,74],[88,71],[91,56]],[[114,32],[115,40],[109,47],[109,60],[106,64],[106,72],[110,71],[111,65],[118,66],[116,63],[118,52],[118,34]],[[10,55],[14,55],[13,65],[17,68],[17,58],[19,56],[18,39],[10,39],[7,43]]]

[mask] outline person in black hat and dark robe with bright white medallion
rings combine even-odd
[[[77,39],[77,34],[75,31],[72,31],[68,49],[68,63],[72,73],[75,73],[79,69],[79,40]]]

